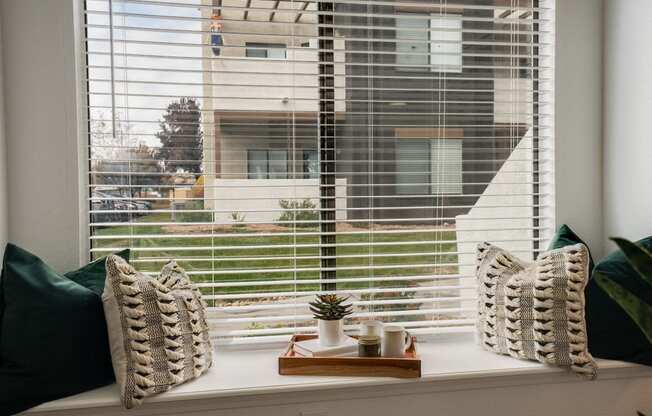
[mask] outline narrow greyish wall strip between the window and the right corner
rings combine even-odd
[[[603,254],[602,18],[602,0],[557,0],[556,219],[595,257]]]

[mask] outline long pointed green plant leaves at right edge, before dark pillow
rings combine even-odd
[[[652,253],[623,238],[612,238],[612,240],[623,251],[641,282],[652,286]],[[631,292],[606,275],[595,272],[594,276],[598,286],[625,310],[652,344],[652,305],[646,303],[637,293]]]

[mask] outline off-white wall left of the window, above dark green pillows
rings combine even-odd
[[[9,239],[79,263],[73,1],[3,0]]]

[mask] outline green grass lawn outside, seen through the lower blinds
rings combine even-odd
[[[187,214],[188,215],[188,214]],[[198,213],[198,216],[203,213]],[[139,218],[137,221],[140,223],[157,223],[169,222],[171,219],[169,214],[150,214]],[[181,218],[183,221],[201,221],[203,218]],[[368,282],[349,282],[346,283],[347,278],[352,277],[381,277],[381,276],[406,276],[406,275],[424,275],[424,274],[445,274],[455,273],[457,268],[455,266],[439,266],[439,267],[416,267],[414,265],[421,264],[448,264],[455,265],[457,263],[457,256],[454,254],[456,251],[455,231],[442,230],[437,232],[415,232],[419,228],[432,228],[428,226],[415,227],[414,229],[399,230],[396,233],[383,233],[382,229],[375,230],[373,235],[369,230],[363,228],[356,228],[355,231],[361,232],[354,235],[338,235],[337,244],[337,278],[342,279],[342,283],[338,283],[338,289],[355,289],[369,287]],[[198,230],[197,227],[192,227],[187,223],[179,223],[173,226],[161,225],[138,225],[134,227],[117,226],[100,228],[95,231],[97,236],[129,236],[131,238],[109,238],[102,240],[94,240],[93,247],[132,247],[134,250],[132,258],[135,260],[155,259],[156,262],[149,263],[136,263],[137,267],[144,271],[158,271],[163,265],[164,261],[170,258],[175,258],[179,264],[187,271],[206,272],[207,274],[195,275],[193,280],[196,282],[228,282],[228,281],[270,281],[270,280],[288,280],[294,279],[295,275],[292,272],[286,271],[283,273],[274,273],[266,271],[276,268],[292,269],[292,268],[318,268],[319,259],[306,259],[305,256],[319,256],[318,247],[299,247],[299,248],[255,248],[255,246],[280,246],[280,245],[293,245],[293,244],[311,244],[317,245],[319,243],[319,236],[305,235],[307,232],[316,232],[317,228],[301,228],[297,229],[295,235],[283,236],[273,234],[291,233],[292,229],[283,228],[275,231],[264,231],[266,234],[272,235],[258,236],[251,235],[260,233],[256,229],[248,227],[227,227],[216,230],[215,233],[227,234],[225,237],[213,238],[210,236],[201,236],[202,234],[211,234],[211,227]],[[146,235],[164,235],[163,238],[149,238]],[[247,234],[247,235],[243,235]],[[303,235],[302,235],[303,234]],[[190,235],[191,237],[183,237],[182,235]],[[194,235],[197,235],[196,237]],[[145,237],[139,237],[145,236]],[[373,238],[373,240],[372,240]],[[368,243],[373,241],[375,243],[392,243],[393,245],[374,246],[371,248],[369,245],[360,246],[346,246],[344,244],[351,243]],[[447,241],[444,243],[435,243],[433,241]],[[448,242],[450,241],[450,242]],[[404,242],[404,244],[401,244]],[[418,242],[432,242],[431,244],[415,244]],[[228,249],[227,246],[235,247]],[[242,246],[242,249],[237,247]],[[254,246],[252,248],[252,246]],[[142,252],[138,248],[158,247],[157,252]],[[174,248],[178,249],[174,249]],[[204,247],[204,248],[202,248]],[[212,249],[211,249],[212,247]],[[247,248],[248,247],[248,248]],[[202,248],[192,250],[193,248]],[[373,250],[373,252],[371,251]],[[410,253],[448,253],[440,255],[410,255]],[[98,256],[106,253],[98,253]],[[370,257],[370,254],[380,255]],[[405,256],[391,257],[389,255],[405,254]],[[355,256],[360,257],[346,257]],[[343,257],[341,257],[343,256]],[[261,257],[265,257],[261,259]],[[274,259],[270,257],[288,257],[288,259]],[[239,258],[241,260],[229,260]],[[373,270],[369,269],[372,265],[376,266]],[[401,266],[396,268],[386,268],[387,266]],[[379,267],[380,266],[380,267]],[[362,267],[358,270],[346,270],[347,267]],[[385,268],[384,268],[385,267]],[[341,268],[345,268],[342,270]],[[248,271],[255,270],[255,271]],[[217,273],[213,273],[216,271]],[[228,272],[228,273],[224,273]],[[319,271],[300,271],[296,273],[296,279],[318,279]],[[405,283],[403,283],[405,284]],[[414,283],[416,284],[416,282]],[[395,286],[395,282],[380,282],[374,283],[374,287],[382,286]],[[223,293],[248,293],[248,292],[276,292],[276,291],[292,291],[294,285],[278,285],[278,286],[246,286],[246,287],[230,287],[208,290],[208,293],[223,294]],[[318,290],[319,286],[316,284],[299,285],[297,290],[313,291]]]

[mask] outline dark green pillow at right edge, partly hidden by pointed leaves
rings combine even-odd
[[[652,236],[637,241],[652,251]],[[636,274],[622,251],[611,253],[595,266],[600,272],[652,305],[652,288]],[[600,288],[595,279],[586,286],[586,323],[589,351],[595,357],[652,365],[652,344],[627,313]]]

